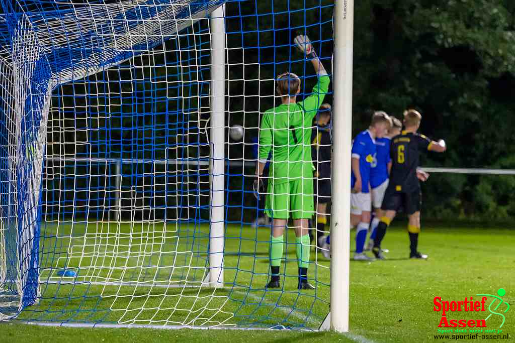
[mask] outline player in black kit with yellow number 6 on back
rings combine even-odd
[[[417,250],[420,232],[420,207],[422,195],[420,192],[417,167],[419,165],[420,151],[444,152],[447,150],[445,142],[440,139],[432,141],[424,135],[417,133],[422,116],[415,110],[404,112],[405,130],[399,136],[393,137],[390,144],[390,157],[392,167],[390,182],[381,206],[384,216],[377,226],[372,252],[378,259],[384,259],[381,252],[381,242],[386,229],[401,207],[408,214],[408,234],[410,241],[410,258],[425,259],[427,255]]]

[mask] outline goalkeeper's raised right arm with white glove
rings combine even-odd
[[[313,87],[311,95],[299,102],[299,104],[304,107],[306,115],[308,115],[310,119],[313,119],[318,113],[318,109],[325,95],[329,91],[329,83],[331,80],[329,79],[327,71],[325,71],[322,61],[318,58],[310,39],[305,35],[298,35],[295,37],[294,42],[297,49],[304,53],[306,59],[311,59],[311,64],[318,77],[317,84]]]

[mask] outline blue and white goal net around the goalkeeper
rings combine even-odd
[[[330,66],[332,2],[0,4],[0,320],[318,329],[330,275],[316,243],[315,290],[297,289],[293,230],[282,285],[265,288],[252,151],[275,77],[297,73],[299,97],[316,83],[293,38]]]

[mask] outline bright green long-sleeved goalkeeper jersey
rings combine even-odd
[[[310,96],[297,103],[277,106],[263,115],[259,158],[266,161],[272,151],[269,173],[272,183],[313,177],[311,128],[313,118],[328,92],[329,83],[329,76],[319,75]]]

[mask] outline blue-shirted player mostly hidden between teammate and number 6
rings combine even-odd
[[[386,114],[384,112],[376,112]],[[375,139],[376,155],[370,170],[370,187],[372,187],[372,207],[374,208],[374,218],[372,219],[370,229],[370,238],[367,244],[367,250],[372,250],[374,246],[374,238],[379,225],[380,218],[383,216],[381,204],[388,187],[388,179],[390,177],[391,159],[390,159],[390,139],[401,134],[402,122],[396,117],[391,117],[391,127],[388,134],[383,138]]]

